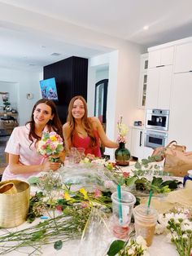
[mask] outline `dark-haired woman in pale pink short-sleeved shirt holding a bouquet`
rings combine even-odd
[[[8,140],[5,152],[9,154],[9,163],[2,180],[28,179],[41,171],[58,170],[59,162],[50,162],[37,152],[37,142],[42,132],[53,130],[63,138],[55,103],[49,99],[40,99],[33,107],[31,120],[25,126],[16,127]]]

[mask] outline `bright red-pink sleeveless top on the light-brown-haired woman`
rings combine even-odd
[[[72,147],[85,148],[85,155],[94,154],[95,157],[101,157],[102,155],[99,148],[99,136],[98,136],[97,130],[94,130],[94,136],[96,139],[96,146],[94,148],[91,148],[89,145],[89,142],[90,142],[89,136],[85,138],[81,138],[78,134],[75,134],[72,137]]]

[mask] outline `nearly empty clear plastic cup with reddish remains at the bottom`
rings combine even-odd
[[[133,205],[136,202],[135,196],[127,191],[121,191],[121,199],[117,192],[112,193],[112,231],[114,236],[124,239],[129,234],[129,223],[133,214]]]

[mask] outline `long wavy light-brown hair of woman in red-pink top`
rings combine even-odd
[[[75,118],[72,116],[72,108],[73,108],[73,104],[76,101],[76,99],[80,99],[82,101],[82,103],[84,104],[85,114],[82,117],[82,125],[83,125],[83,128],[85,129],[85,131],[87,132],[87,135],[90,138],[90,147],[94,148],[96,146],[96,138],[94,137],[94,129],[89,120],[89,117],[87,117],[87,113],[88,113],[87,103],[81,95],[77,95],[77,96],[73,97],[68,105],[67,121],[68,121],[70,129],[71,129],[71,137],[73,137],[76,133],[76,122],[75,122]]]

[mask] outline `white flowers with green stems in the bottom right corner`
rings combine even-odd
[[[155,233],[167,233],[168,241],[176,245],[180,256],[192,255],[192,210],[174,210],[159,214]]]

